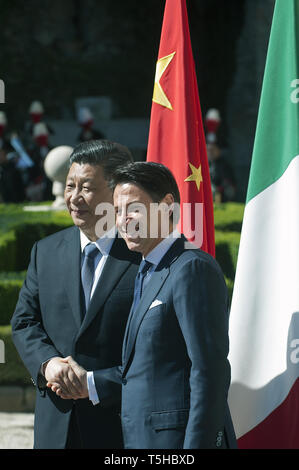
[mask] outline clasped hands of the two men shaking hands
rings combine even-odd
[[[71,357],[53,357],[44,367],[47,387],[65,400],[88,397],[87,371]]]

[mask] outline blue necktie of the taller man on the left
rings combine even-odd
[[[101,252],[94,243],[89,243],[88,245],[86,245],[86,247],[84,248],[84,260],[81,268],[81,281],[84,293],[86,312],[88,310],[90,302],[90,294],[94,280],[95,269],[100,258]]]

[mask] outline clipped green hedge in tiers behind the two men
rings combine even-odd
[[[232,296],[244,204],[216,204],[214,207],[216,259]],[[0,339],[5,344],[5,364],[0,364],[0,384],[31,384],[30,377],[14,347],[11,327],[19,290],[25,279],[31,248],[35,241],[72,225],[69,214],[25,212],[18,204],[0,204]]]

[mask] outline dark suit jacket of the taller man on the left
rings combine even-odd
[[[77,227],[37,242],[12,318],[13,340],[38,392],[35,447],[64,448],[71,411],[84,447],[121,448],[120,387],[94,407],[89,399],[62,400],[45,389],[39,371],[53,356],[71,355],[87,370],[113,367],[121,347],[133,298],[139,255],[116,238],[89,309],[81,308],[80,234]]]

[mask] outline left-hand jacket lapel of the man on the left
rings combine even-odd
[[[80,328],[81,316],[81,248],[80,248],[80,232],[74,227],[64,239],[63,250],[60,257],[62,263],[61,272],[65,273],[64,282],[69,303],[75,322]]]

